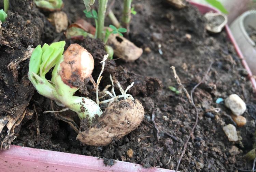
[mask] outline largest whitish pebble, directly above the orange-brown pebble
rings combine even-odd
[[[225,99],[225,105],[229,108],[234,115],[241,115],[246,110],[244,101],[237,95],[231,94]]]

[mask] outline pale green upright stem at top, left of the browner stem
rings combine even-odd
[[[108,0],[99,0],[97,38],[103,40],[104,20]]]

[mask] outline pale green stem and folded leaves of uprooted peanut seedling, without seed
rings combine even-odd
[[[86,117],[92,119],[95,114],[100,116],[102,111],[93,100],[73,96],[79,88],[70,87],[62,81],[60,64],[64,60],[62,53],[65,44],[65,41],[60,41],[51,45],[44,44],[42,47],[38,45],[30,58],[28,78],[39,94],[55,100],[60,106],[75,111],[80,119]],[[45,75],[52,67],[54,67],[52,79],[48,81]]]

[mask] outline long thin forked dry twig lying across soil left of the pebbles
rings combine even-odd
[[[202,79],[198,84],[196,84],[195,87],[194,87],[194,88],[191,90],[191,92],[190,92],[191,104],[193,105],[193,107],[194,107],[195,110],[196,110],[196,122],[195,122],[195,124],[194,124],[194,126],[193,126],[193,128],[192,128],[192,130],[191,130],[191,132],[190,132],[190,134],[189,134],[189,136],[188,136],[188,139],[187,139],[187,141],[186,141],[186,143],[185,143],[185,145],[184,145],[184,147],[183,147],[183,151],[182,151],[182,154],[181,154],[181,156],[180,156],[180,158],[179,158],[178,165],[177,165],[177,168],[176,168],[175,172],[177,172],[178,169],[179,169],[179,166],[180,166],[180,163],[181,163],[181,159],[182,159],[182,157],[184,156],[185,151],[186,151],[186,149],[187,149],[188,141],[189,141],[191,135],[194,133],[194,130],[195,130],[196,125],[197,125],[197,122],[198,122],[198,114],[199,114],[199,112],[198,112],[197,107],[196,107],[196,105],[195,105],[195,103],[194,103],[194,100],[193,100],[193,93],[194,93],[195,89],[205,80],[205,78],[206,78],[207,75],[209,74],[209,72],[210,72],[210,70],[211,70],[211,67],[212,67],[212,64],[213,64],[213,62],[211,62],[211,64],[210,64],[210,66],[209,66],[209,68],[208,68],[206,74],[204,75],[203,79]],[[172,67],[173,67],[173,66],[172,66]],[[173,68],[174,68],[174,67],[173,67]],[[173,69],[173,68],[172,68],[172,69]],[[173,70],[175,71],[175,68],[174,68]],[[174,71],[173,71],[173,72],[174,72]],[[176,72],[174,72],[174,77],[175,77],[175,74],[176,74]],[[177,76],[177,74],[176,74],[176,76]],[[179,78],[179,77],[177,77],[177,78]],[[178,82],[178,83],[179,83],[179,82]],[[184,87],[183,87],[183,88],[184,88]],[[185,88],[184,88],[184,89],[185,89]],[[186,93],[187,93],[187,91],[186,91]]]

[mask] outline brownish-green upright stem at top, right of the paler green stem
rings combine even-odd
[[[131,2],[132,2],[132,0],[124,0],[122,25],[127,29],[127,32],[125,33],[125,35],[128,35],[129,31],[130,31]]]

